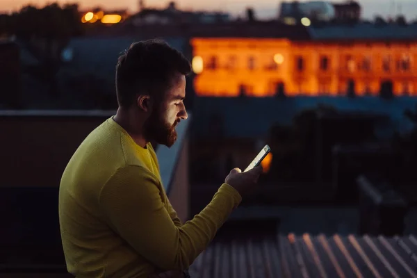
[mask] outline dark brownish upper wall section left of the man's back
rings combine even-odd
[[[76,148],[111,115],[0,114],[0,187],[58,187]]]

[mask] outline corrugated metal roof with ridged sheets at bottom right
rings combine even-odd
[[[208,277],[417,277],[417,238],[295,236],[218,240],[190,267]]]

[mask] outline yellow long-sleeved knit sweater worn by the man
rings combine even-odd
[[[60,182],[60,231],[76,277],[148,277],[184,270],[240,203],[224,183],[204,210],[181,224],[151,144],[136,145],[113,118],[85,138]]]

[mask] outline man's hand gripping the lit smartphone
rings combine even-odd
[[[234,187],[240,196],[244,197],[256,188],[261,172],[261,166],[254,167],[252,170],[244,173],[239,168],[234,168],[224,179],[224,182]]]

